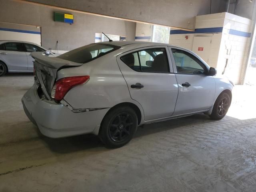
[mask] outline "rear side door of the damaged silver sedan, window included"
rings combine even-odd
[[[166,49],[142,48],[117,57],[131,98],[142,106],[145,120],[172,116],[175,109],[178,86]]]

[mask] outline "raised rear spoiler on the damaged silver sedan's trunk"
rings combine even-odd
[[[32,52],[31,56],[38,63],[54,69],[59,69],[63,66],[81,66],[82,65],[82,63],[75,63],[72,61],[60,59],[58,57],[51,57],[47,54],[44,54],[44,52]]]

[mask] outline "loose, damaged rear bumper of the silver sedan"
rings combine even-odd
[[[40,99],[35,83],[22,97],[24,112],[40,132],[51,138],[79,134],[98,134],[100,123],[109,108],[75,113],[63,104]]]

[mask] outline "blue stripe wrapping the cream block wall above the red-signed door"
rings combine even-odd
[[[195,34],[195,33],[221,33],[222,30],[223,30],[223,27],[201,28],[201,29],[195,29],[194,31],[171,30],[170,34],[172,35],[172,34]],[[242,36],[242,37],[250,37],[251,36],[251,33],[237,31],[234,29],[230,29],[229,34]]]

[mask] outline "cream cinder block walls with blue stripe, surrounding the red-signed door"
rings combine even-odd
[[[252,31],[251,20],[230,13],[196,16],[194,32],[171,30],[170,44],[192,50],[194,36],[211,36],[209,66],[242,83]],[[188,39],[185,39],[188,36]]]

